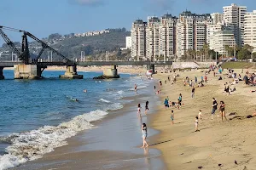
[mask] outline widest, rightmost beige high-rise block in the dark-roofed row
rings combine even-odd
[[[176,26],[177,57],[181,58],[188,50],[201,50],[207,43],[207,26],[212,25],[210,14],[192,14],[184,11],[179,15]]]

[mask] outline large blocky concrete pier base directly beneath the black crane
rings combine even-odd
[[[41,69],[38,71],[38,65],[15,65],[15,79],[39,79]]]

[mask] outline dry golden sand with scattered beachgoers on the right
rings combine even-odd
[[[236,71],[239,72],[239,71]],[[169,74],[158,74],[155,78],[162,82],[167,80]],[[161,88],[162,103],[166,96],[171,101],[177,101],[178,94],[183,94],[183,106],[181,110],[171,108],[165,110],[160,106],[154,115],[153,126],[160,130],[160,134],[150,139],[153,147],[162,151],[166,166],[172,170],[185,169],[256,169],[256,117],[251,119],[233,119],[230,121],[231,112],[236,116],[247,116],[256,109],[256,93],[250,93],[255,87],[245,87],[243,82],[236,84],[236,92],[224,95],[224,82],[232,82],[225,78],[218,81],[212,73],[207,75],[208,82],[203,88],[195,88],[195,99],[191,98],[191,88],[183,86],[183,77],[201,80],[204,75],[201,71],[177,72],[177,83],[163,83]],[[241,75],[242,77],[244,74]],[[211,119],[212,97],[226,104],[227,122],[214,116]],[[175,113],[175,124],[172,125],[171,111]],[[195,133],[195,116],[202,110],[202,121],[199,122],[200,132]],[[218,113],[218,111],[216,111]],[[235,164],[237,161],[237,165]],[[220,167],[218,164],[221,164]]]

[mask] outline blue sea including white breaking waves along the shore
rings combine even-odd
[[[131,102],[123,98],[135,95],[135,83],[139,94],[146,93],[151,83],[129,74],[114,80],[93,80],[100,72],[79,72],[83,80],[60,80],[64,71],[44,71],[42,80],[14,80],[13,71],[3,74],[0,170],[38,159],[67,144],[67,138],[94,128],[94,121]]]

